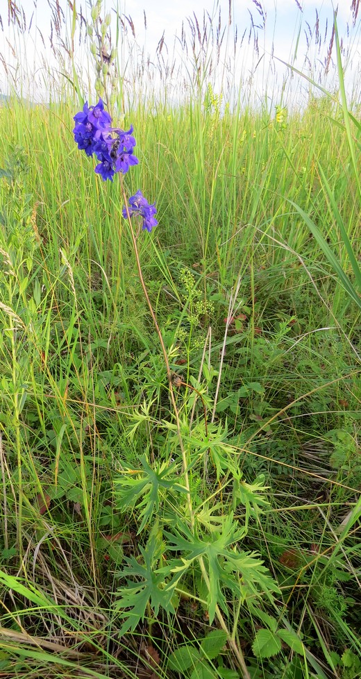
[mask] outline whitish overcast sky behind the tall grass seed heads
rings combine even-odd
[[[55,5],[56,0],[49,0],[50,4]],[[28,63],[33,62],[34,50],[38,53],[45,53],[47,58],[51,58],[51,53],[44,49],[41,40],[39,39],[35,26],[40,29],[47,45],[50,34],[50,18],[51,10],[49,8],[48,0],[17,0],[17,5],[22,5],[29,23],[33,15],[33,24],[31,34],[28,35],[26,41],[26,55],[22,59]],[[9,37],[9,42],[13,40],[11,31],[8,28],[7,10],[2,9],[5,0],[0,0],[0,15],[3,22],[3,32],[0,31],[0,53],[3,53],[6,62],[11,60],[9,47],[6,44],[5,38]],[[257,5],[262,6],[264,15],[258,10]],[[60,5],[66,8],[66,0],[60,0]],[[116,1],[104,0],[103,6],[111,9],[116,5]],[[255,32],[258,33],[258,48],[260,56],[263,55],[262,67],[265,72],[265,65],[269,61],[269,56],[273,52],[274,56],[290,63],[293,62],[294,51],[296,44],[298,46],[298,59],[295,65],[299,68],[304,66],[304,55],[308,52],[310,60],[317,62],[326,56],[328,44],[331,36],[331,29],[333,24],[333,12],[336,8],[332,0],[231,0],[233,10],[233,26],[231,28],[231,37],[234,35],[235,25],[237,25],[238,36],[242,36],[244,30],[249,29],[251,23],[255,25]],[[190,33],[187,19],[193,17],[195,12],[196,17],[201,23],[203,19],[203,10],[208,12],[211,17],[216,17],[217,3],[214,0],[119,0],[119,11],[131,16],[135,26],[135,39],[140,47],[144,47],[144,53],[149,54],[151,58],[156,53],[156,47],[163,33],[165,34],[165,42],[169,51],[174,48],[175,36],[181,36],[182,24],[186,31]],[[221,8],[222,24],[227,24],[228,18],[228,0],[219,0],[218,6]],[[301,7],[301,10],[300,10]],[[82,9],[85,16],[90,14],[90,3],[87,0],[79,2],[76,0],[76,8],[79,11]],[[146,30],[144,28],[144,11],[146,14]],[[33,14],[34,12],[34,14]],[[68,10],[69,12],[69,10]],[[319,18],[319,32],[321,34],[322,49],[315,44],[315,24]],[[265,19],[265,22],[264,22]],[[360,17],[356,22],[356,26],[352,28],[353,16],[351,12],[351,0],[339,0],[337,11],[337,25],[339,28],[339,35],[344,39],[344,46],[349,49],[349,53],[353,58],[352,64],[349,65],[349,71],[352,69],[353,78],[357,79],[357,71],[360,68]],[[69,24],[68,24],[69,25]],[[325,39],[326,26],[328,31]],[[347,35],[347,26],[349,26],[349,35]],[[301,30],[300,30],[301,27]],[[308,37],[306,37],[306,35]],[[299,42],[298,42],[299,36]],[[309,42],[309,47],[307,44]],[[1,42],[3,42],[3,49],[1,49]],[[34,47],[35,45],[35,47]],[[251,50],[252,51],[252,50]],[[242,66],[239,68],[252,69],[254,67],[255,56],[246,54],[242,57]],[[257,58],[258,60],[258,58]],[[268,61],[267,61],[268,60]],[[280,66],[280,68],[282,68]],[[267,72],[267,68],[266,68]],[[356,75],[355,75],[356,74]],[[268,76],[267,76],[268,77]],[[350,74],[351,77],[351,74]],[[0,89],[4,90],[4,78],[1,74],[0,66]]]

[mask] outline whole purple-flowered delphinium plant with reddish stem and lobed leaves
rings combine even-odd
[[[92,13],[93,22],[94,17],[99,22],[99,2]],[[101,55],[99,58],[102,58]],[[99,69],[97,73],[99,76]],[[127,131],[115,126],[101,97],[95,105],[84,103],[74,121],[74,139],[78,149],[85,151],[87,156],[95,156],[96,174],[104,182],[119,179],[124,199],[122,217],[130,230],[138,275],[158,334],[173,412],[171,421],[163,423],[169,442],[166,459],[162,460],[160,456],[151,462],[142,455],[137,463],[138,469],[125,462],[122,464],[123,472],[115,479],[119,488],[117,507],[121,512],[133,512],[139,526],[138,535],[142,535],[144,545],[140,546],[137,558],[124,558],[124,568],[118,573],[121,585],[115,608],[123,621],[120,633],[135,630],[140,621],[157,616],[160,609],[174,614],[180,596],[186,592],[192,597],[194,587],[187,589],[187,583],[195,574],[197,601],[202,601],[207,608],[210,623],[217,621],[224,634],[223,642],[232,648],[242,676],[250,679],[237,642],[241,607],[251,601],[253,610],[257,609],[255,601],[260,601],[265,595],[272,602],[274,592],[279,592],[258,554],[240,548],[249,520],[254,519],[267,504],[262,497],[265,486],[260,478],[253,485],[242,481],[237,451],[227,442],[226,426],[208,426],[204,409],[204,417],[192,428],[178,410],[175,389],[185,383],[182,379],[174,379],[171,371],[169,352],[146,289],[138,249],[141,231],[146,231],[146,237],[149,237],[158,225],[156,205],[149,203],[141,190],[128,197],[124,180],[129,169],[139,162],[135,156],[133,126]],[[137,229],[133,226],[134,220],[139,222]],[[139,424],[137,417],[139,421],[148,418],[151,423],[150,405],[144,403],[139,412],[133,409],[133,430]],[[199,464],[208,465],[208,460],[215,470],[217,489],[210,492],[210,498],[205,494],[199,500],[192,494],[190,470]],[[226,489],[229,507],[224,512],[222,503],[215,498]],[[243,525],[234,517],[234,511],[241,505]],[[233,620],[229,617],[227,603],[230,593],[234,598]],[[209,654],[208,657],[213,656]],[[177,662],[174,660],[174,668]],[[179,668],[180,671],[186,669],[182,664]],[[218,668],[218,672],[222,676],[221,669]]]

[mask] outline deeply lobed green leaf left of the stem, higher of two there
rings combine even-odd
[[[146,460],[141,458],[142,469],[125,467],[124,475],[115,479],[117,505],[121,511],[137,508],[142,521],[138,534],[141,533],[146,522],[153,513],[158,512],[159,505],[165,491],[173,490],[177,493],[187,493],[187,489],[178,482],[175,476],[176,465],[167,462],[158,463],[152,469]]]

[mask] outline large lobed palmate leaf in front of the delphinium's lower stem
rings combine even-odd
[[[223,526],[206,537],[194,535],[181,523],[178,523],[178,530],[173,534],[165,531],[167,549],[182,553],[180,559],[171,560],[167,564],[167,568],[174,573],[169,587],[176,586],[194,561],[203,560],[209,582],[207,602],[210,623],[215,619],[217,605],[226,610],[223,592],[226,588],[239,598],[249,593],[252,596],[265,593],[272,600],[271,592],[279,592],[276,582],[262,566],[256,553],[231,548],[243,535],[242,528],[238,528],[233,521],[233,514],[224,517]]]

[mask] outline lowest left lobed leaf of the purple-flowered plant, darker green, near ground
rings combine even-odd
[[[155,615],[158,615],[160,607],[167,612],[174,613],[171,603],[173,589],[167,588],[166,569],[160,571],[156,568],[156,563],[162,554],[162,545],[155,533],[151,535],[146,548],[140,547],[140,551],[143,564],[139,564],[133,556],[126,558],[128,565],[117,573],[117,576],[126,579],[126,585],[117,589],[117,601],[115,602],[115,608],[121,610],[121,618],[125,618],[120,630],[121,635],[128,630],[135,630],[137,624],[144,620],[148,604]]]

